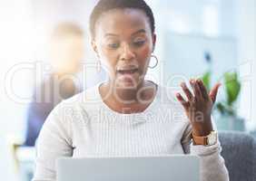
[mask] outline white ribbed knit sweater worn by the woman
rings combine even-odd
[[[192,145],[191,124],[171,89],[159,86],[142,113],[122,114],[103,102],[99,85],[64,100],[46,119],[36,144],[34,181],[55,180],[57,157],[188,153],[201,158],[201,181],[229,180],[219,141],[211,147]]]

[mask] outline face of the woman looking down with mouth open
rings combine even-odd
[[[143,82],[155,43],[146,14],[137,9],[116,9],[95,25],[92,42],[109,78],[123,88]]]

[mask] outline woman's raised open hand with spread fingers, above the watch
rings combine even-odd
[[[212,131],[212,107],[221,83],[217,83],[209,94],[202,80],[190,80],[190,84],[193,94],[186,83],[181,83],[187,100],[182,97],[181,93],[177,93],[176,97],[181,102],[188,119],[192,123],[193,134],[196,136],[207,136]]]

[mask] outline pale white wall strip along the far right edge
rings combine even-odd
[[[236,0],[236,34],[243,89],[241,115],[247,118],[248,129],[256,129],[256,2]]]

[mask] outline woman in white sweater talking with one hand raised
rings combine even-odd
[[[156,35],[143,0],[100,0],[90,20],[92,45],[109,80],[52,111],[38,139],[34,180],[54,180],[57,157],[190,152],[201,158],[201,180],[229,180],[211,118],[220,84],[208,94],[201,80],[191,81],[193,93],[182,83],[188,100],[178,93],[177,102],[172,90],[144,80]]]

